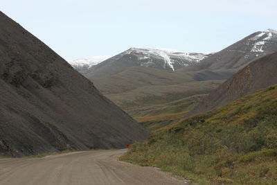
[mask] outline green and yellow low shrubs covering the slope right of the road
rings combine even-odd
[[[277,184],[277,85],[183,118],[121,157],[199,184]]]

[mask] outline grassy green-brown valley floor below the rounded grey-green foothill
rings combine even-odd
[[[136,121],[154,131],[178,121],[224,80],[139,87],[123,94],[106,94]],[[171,116],[170,116],[171,114]]]

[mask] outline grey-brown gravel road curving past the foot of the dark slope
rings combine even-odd
[[[157,168],[118,161],[124,152],[96,150],[36,159],[0,159],[0,184],[189,184]]]

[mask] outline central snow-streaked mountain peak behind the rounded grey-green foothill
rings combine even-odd
[[[89,79],[101,78],[129,67],[139,66],[175,71],[180,67],[199,62],[208,55],[207,53],[188,53],[165,49],[131,48],[89,69],[85,72],[85,76]]]

